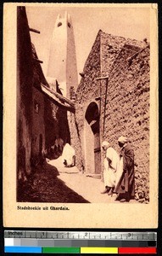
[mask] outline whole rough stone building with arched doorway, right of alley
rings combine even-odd
[[[135,152],[136,199],[148,201],[149,44],[99,31],[81,77],[76,131],[71,125],[76,164],[102,178],[101,143],[108,140],[119,152],[118,137],[128,137]]]

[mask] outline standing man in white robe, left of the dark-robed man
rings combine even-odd
[[[110,147],[110,143],[104,141],[102,143],[102,148],[105,153],[103,171],[103,181],[105,189],[101,193],[108,193],[108,195],[112,195],[115,189],[116,171],[120,157],[115,149]]]

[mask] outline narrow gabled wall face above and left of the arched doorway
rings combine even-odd
[[[81,83],[76,91],[75,125],[77,131],[75,131],[75,134],[78,134],[79,137],[78,139],[73,139],[72,143],[77,145],[77,143],[81,141],[81,150],[76,150],[76,165],[82,166],[81,169],[84,169],[85,167],[85,152],[83,146],[85,113],[88,104],[100,96],[100,88],[97,80],[97,78],[100,77],[100,33],[101,31],[98,32],[95,43],[92,46],[92,50],[87,57],[87,61],[83,69],[84,77],[81,78]]]

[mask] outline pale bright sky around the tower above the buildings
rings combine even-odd
[[[75,5],[75,6],[74,6]],[[130,7],[131,6],[131,7]],[[50,43],[53,27],[57,15],[64,15],[66,11],[71,15],[75,33],[75,50],[78,73],[81,73],[92,49],[92,44],[99,29],[103,32],[149,41],[149,6],[142,5],[141,8],[129,4],[101,5],[66,5],[55,6],[26,6],[29,26],[41,32],[31,32],[31,41],[36,46],[38,58],[43,61],[42,70],[47,76],[47,63],[49,57]]]

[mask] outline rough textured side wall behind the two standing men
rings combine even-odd
[[[148,202],[149,47],[142,49],[125,45],[115,59],[108,84],[105,80],[102,81],[101,121],[105,119],[103,138],[112,143],[118,152],[118,137],[123,135],[130,139],[135,153],[136,199]],[[133,51],[137,54],[133,54]]]

